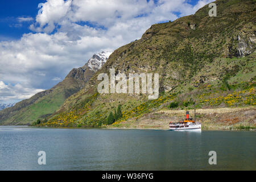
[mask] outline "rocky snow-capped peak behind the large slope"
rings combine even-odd
[[[94,72],[96,72],[98,69],[101,69],[102,65],[106,63],[111,54],[112,52],[109,51],[102,51],[100,53],[94,54],[88,61],[89,69]]]

